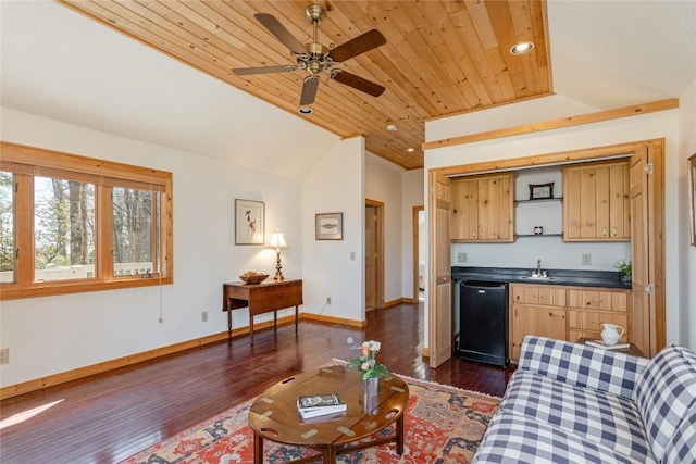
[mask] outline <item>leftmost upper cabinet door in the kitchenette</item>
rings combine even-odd
[[[451,183],[451,239],[478,239],[478,181],[457,179]]]

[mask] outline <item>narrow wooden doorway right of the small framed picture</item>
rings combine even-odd
[[[365,200],[365,310],[384,308],[384,203]]]

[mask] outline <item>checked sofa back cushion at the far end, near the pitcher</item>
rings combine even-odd
[[[696,405],[696,353],[683,347],[664,348],[636,379],[634,399],[652,453],[661,461],[681,422]]]

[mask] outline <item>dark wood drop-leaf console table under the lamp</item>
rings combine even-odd
[[[249,338],[253,344],[253,316],[273,311],[273,328],[277,323],[277,310],[295,306],[295,333],[297,312],[302,304],[302,280],[269,280],[261,284],[235,281],[222,286],[222,310],[227,312],[227,339],[232,339],[232,311],[249,308]]]

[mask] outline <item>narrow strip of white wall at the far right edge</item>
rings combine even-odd
[[[688,156],[696,153],[696,80],[680,98],[679,178],[679,285],[680,341],[696,348],[696,246],[691,243]]]

